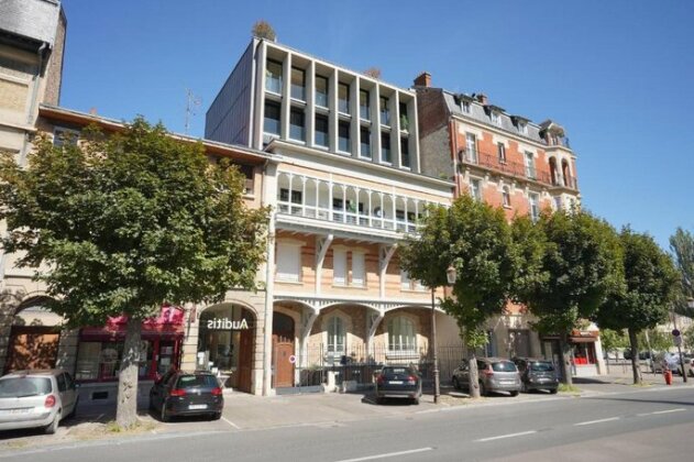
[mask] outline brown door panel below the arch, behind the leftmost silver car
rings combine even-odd
[[[13,326],[4,372],[55,367],[59,339],[55,328]]]

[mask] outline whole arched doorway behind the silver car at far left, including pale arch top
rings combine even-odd
[[[46,300],[32,298],[18,308],[10,330],[4,374],[56,366],[63,319],[44,307]]]

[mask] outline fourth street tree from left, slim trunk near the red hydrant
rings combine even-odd
[[[631,231],[619,233],[621,271],[625,284],[615,285],[597,311],[601,328],[627,329],[631,348],[634,383],[641,383],[638,333],[668,319],[678,283],[678,272],[670,256],[653,238]]]

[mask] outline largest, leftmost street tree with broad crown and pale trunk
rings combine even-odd
[[[70,326],[128,317],[117,421],[136,421],[143,319],[165,302],[219,300],[253,288],[265,249],[267,210],[246,209],[243,176],[212,164],[201,143],[167,135],[143,119],[80,145],[37,142],[29,168],[0,163],[2,244],[54,298]]]

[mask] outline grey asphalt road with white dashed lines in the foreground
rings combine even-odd
[[[0,454],[2,461],[687,461],[694,391],[456,407],[256,431],[151,436]]]

